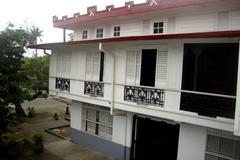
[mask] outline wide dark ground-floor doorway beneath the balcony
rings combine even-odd
[[[179,125],[134,117],[131,160],[176,160]]]

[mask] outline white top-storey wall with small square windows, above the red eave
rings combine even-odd
[[[228,6],[229,5],[229,6]],[[116,17],[111,21],[99,21],[74,29],[74,40],[81,40],[82,30],[88,30],[88,39],[96,38],[96,29],[104,28],[104,38],[113,37],[114,26],[120,26],[120,36],[153,34],[153,23],[164,22],[163,34],[211,32],[240,29],[240,7],[231,3],[225,6],[194,6],[175,10],[160,10],[139,16]]]

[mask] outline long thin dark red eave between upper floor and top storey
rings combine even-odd
[[[146,36],[130,36],[130,37],[114,37],[81,41],[69,41],[59,43],[45,43],[38,45],[31,45],[28,48],[35,49],[52,49],[61,46],[73,46],[90,43],[110,43],[110,42],[124,42],[124,41],[143,41],[143,40],[164,40],[164,39],[182,39],[182,38],[226,38],[226,37],[240,37],[240,30],[237,31],[215,31],[215,32],[197,32],[197,33],[177,33],[177,34],[158,34]]]

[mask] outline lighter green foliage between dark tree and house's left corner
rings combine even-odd
[[[48,92],[48,56],[24,58],[22,69],[30,81],[29,90],[33,92],[33,99]]]

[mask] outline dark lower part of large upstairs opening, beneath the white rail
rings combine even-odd
[[[224,96],[181,93],[180,109],[208,117],[234,118],[236,99]]]

